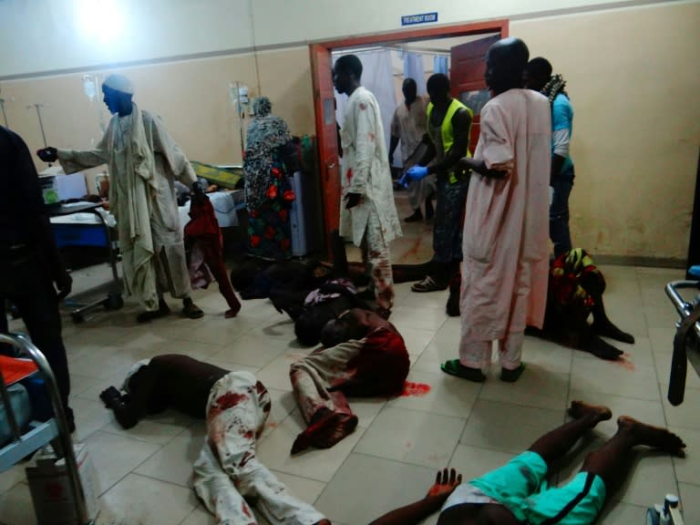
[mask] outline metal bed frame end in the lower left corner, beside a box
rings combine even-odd
[[[0,396],[2,397],[5,416],[11,431],[11,440],[0,448],[0,473],[11,468],[17,462],[26,458],[35,450],[51,443],[57,453],[66,462],[67,478],[73,494],[76,516],[80,524],[89,522],[85,494],[80,482],[77,469],[76,456],[73,452],[73,442],[70,438],[66,415],[61,404],[61,396],[58,392],[56,377],[46,361],[46,357],[39,352],[35,345],[30,343],[23,335],[0,334],[0,343],[14,346],[22,355],[26,355],[38,367],[39,374],[44,379],[47,394],[51,400],[54,417],[45,422],[33,421],[23,432],[16,421],[15,411],[10,404],[5,377],[0,374]]]

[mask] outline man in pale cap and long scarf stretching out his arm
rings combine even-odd
[[[203,315],[190,298],[190,276],[180,230],[175,180],[191,186],[197,177],[160,118],[132,102],[127,77],[110,75],[102,85],[114,114],[95,149],[42,150],[41,158],[59,160],[67,173],[108,164],[109,210],[117,219],[124,284],[146,311],[139,323],[170,313],[167,290],[182,299],[182,313]]]

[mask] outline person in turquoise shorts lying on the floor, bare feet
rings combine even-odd
[[[581,401],[571,403],[569,415],[571,421],[539,438],[504,467],[466,483],[454,468],[446,468],[438,472],[424,499],[392,510],[370,525],[414,525],[438,510],[438,525],[589,525],[627,477],[633,448],[645,446],[685,457],[681,438],[623,416],[617,420],[617,433],[585,458],[571,481],[547,488],[552,464],[586,432],[612,417],[609,408]]]

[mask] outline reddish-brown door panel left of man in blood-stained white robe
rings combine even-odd
[[[319,172],[324,202],[324,242],[330,247],[330,232],[340,223],[340,166],[335,123],[335,92],[331,50],[311,45],[311,71],[314,78],[314,109],[318,136]]]

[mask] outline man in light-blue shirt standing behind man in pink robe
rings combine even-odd
[[[573,132],[573,108],[564,91],[566,81],[561,75],[551,74],[549,60],[532,58],[523,74],[525,88],[539,91],[551,106],[551,174],[552,197],[550,204],[550,238],[554,243],[554,257],[571,251],[569,232],[569,195],[573,188],[573,162],[569,142]]]

